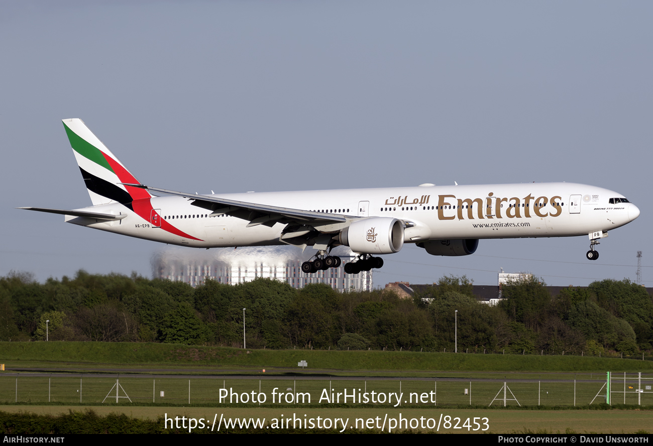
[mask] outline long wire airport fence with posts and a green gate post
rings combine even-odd
[[[0,376],[5,404],[588,406],[653,404],[653,374],[515,378]]]

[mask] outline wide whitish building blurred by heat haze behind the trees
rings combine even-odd
[[[153,255],[152,275],[155,278],[183,281],[193,287],[204,283],[206,278],[229,285],[270,278],[284,281],[297,289],[308,283],[327,283],[341,292],[372,290],[372,271],[345,274],[345,263],[354,257],[345,247],[337,247],[332,251],[332,255],[342,259],[339,268],[329,268],[314,274],[302,272],[302,263],[308,261],[314,253],[309,249],[302,253],[292,246],[215,248],[206,251],[168,247]]]

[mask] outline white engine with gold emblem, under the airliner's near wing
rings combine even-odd
[[[404,223],[392,217],[354,221],[338,234],[338,242],[359,254],[392,254],[404,246]]]

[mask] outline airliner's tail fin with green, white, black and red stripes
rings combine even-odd
[[[151,198],[145,189],[121,184],[139,182],[82,119],[63,119],[63,127],[93,206],[119,202],[132,209],[133,200]]]

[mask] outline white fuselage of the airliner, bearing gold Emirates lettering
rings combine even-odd
[[[210,197],[255,202],[298,210],[352,217],[394,217],[413,223],[404,242],[437,239],[561,237],[609,231],[639,215],[624,197],[591,185],[524,183],[455,185],[216,194]],[[84,208],[105,214],[127,214],[118,221],[94,221],[67,215],[66,221],[103,231],[191,247],[262,246],[279,241],[285,225],[247,227],[249,221],[193,206],[182,197],[153,197],[151,207],[161,219],[191,237],[155,227],[119,203]],[[410,225],[408,225],[410,226]]]

